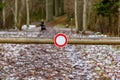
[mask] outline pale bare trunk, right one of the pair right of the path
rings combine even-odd
[[[87,29],[87,25],[86,25],[86,22],[87,22],[87,0],[84,0],[84,5],[83,5],[83,31],[86,31]]]

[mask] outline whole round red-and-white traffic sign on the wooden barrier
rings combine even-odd
[[[54,37],[54,44],[58,47],[65,47],[68,43],[68,38],[63,33],[58,33]]]

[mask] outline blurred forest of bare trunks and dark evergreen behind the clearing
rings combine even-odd
[[[64,16],[62,25],[76,32],[94,31],[120,36],[119,0],[0,0],[0,29],[21,29],[44,19]]]

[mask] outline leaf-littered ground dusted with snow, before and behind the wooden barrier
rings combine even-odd
[[[52,37],[59,31],[48,32],[3,31],[0,36]],[[120,80],[120,50],[107,45],[67,45],[60,49],[49,44],[0,44],[0,79]]]

